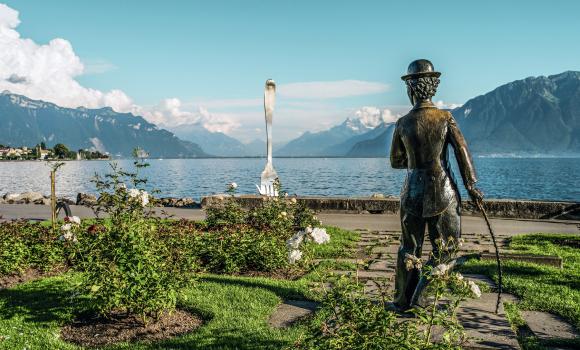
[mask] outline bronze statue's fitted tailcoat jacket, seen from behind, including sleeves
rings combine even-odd
[[[397,121],[391,145],[391,165],[407,169],[401,207],[419,217],[444,212],[461,203],[448,159],[451,145],[466,186],[477,181],[465,139],[450,112],[432,103],[415,106]]]

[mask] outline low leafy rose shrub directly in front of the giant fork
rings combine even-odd
[[[289,198],[278,184],[278,196],[263,197],[248,211],[236,201],[235,184],[228,197],[206,210],[207,233],[199,238],[199,257],[210,272],[271,272],[288,266],[286,240],[308,226],[319,226],[314,212]]]

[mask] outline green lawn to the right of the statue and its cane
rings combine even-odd
[[[507,305],[506,313],[516,329],[526,327],[520,310],[537,310],[561,316],[580,329],[580,236],[565,234],[530,234],[513,237],[509,249],[537,255],[557,255],[563,268],[533,263],[503,261],[504,291],[520,301]],[[497,283],[493,261],[471,260],[461,267],[466,273],[485,274]],[[522,339],[527,349],[542,349],[536,339]],[[569,343],[569,342],[567,342]],[[580,341],[575,341],[575,346]]]

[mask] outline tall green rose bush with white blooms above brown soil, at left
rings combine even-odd
[[[136,169],[145,166],[135,162]],[[145,184],[137,172],[112,165],[113,172],[95,183],[97,207],[108,220],[92,232],[79,233],[78,268],[83,292],[101,314],[122,310],[140,315],[144,322],[175,308],[178,289],[190,280],[195,266],[188,258],[190,238],[159,236],[160,219],[152,216]],[[125,183],[133,188],[127,189]]]

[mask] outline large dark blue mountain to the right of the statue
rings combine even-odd
[[[452,111],[475,153],[580,153],[580,72],[502,85]]]

